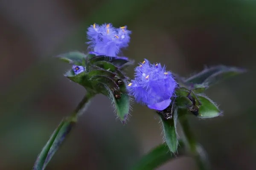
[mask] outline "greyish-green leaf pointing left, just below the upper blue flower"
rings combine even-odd
[[[79,51],[72,51],[58,56],[62,61],[70,64],[82,65],[83,60],[87,57],[86,54]]]

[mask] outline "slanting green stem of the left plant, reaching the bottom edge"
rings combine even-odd
[[[81,102],[77,105],[71,116],[64,118],[58,127],[52,133],[50,139],[39,153],[32,170],[44,170],[54,153],[63,143],[64,139],[70,133],[77,122],[79,114],[84,111],[86,105],[95,94],[87,92]]]

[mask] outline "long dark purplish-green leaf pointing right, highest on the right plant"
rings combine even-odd
[[[200,73],[186,79],[185,82],[196,84],[208,83],[208,85],[212,85],[215,82],[244,73],[245,71],[246,70],[242,68],[217,65],[215,67],[204,69]]]

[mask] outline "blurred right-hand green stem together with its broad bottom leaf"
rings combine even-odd
[[[186,156],[191,153],[191,156],[196,161],[198,170],[210,170],[207,154],[203,147],[196,142],[186,115],[181,116],[179,121],[183,129],[184,139],[179,140],[177,156]],[[166,143],[163,143],[145,154],[130,170],[154,170],[177,156],[170,152]]]

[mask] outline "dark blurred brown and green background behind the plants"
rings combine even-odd
[[[213,170],[256,169],[256,1],[254,0],[0,0],[0,169],[31,169],[64,116],[85,94],[54,56],[87,51],[93,23],[133,31],[124,55],[161,62],[189,77],[218,64],[249,72],[207,91],[223,117],[190,116]],[[133,77],[132,66],[128,75]],[[47,170],[126,170],[163,142],[154,112],[135,104],[126,125],[98,95]],[[189,157],[159,170],[196,170]]]

